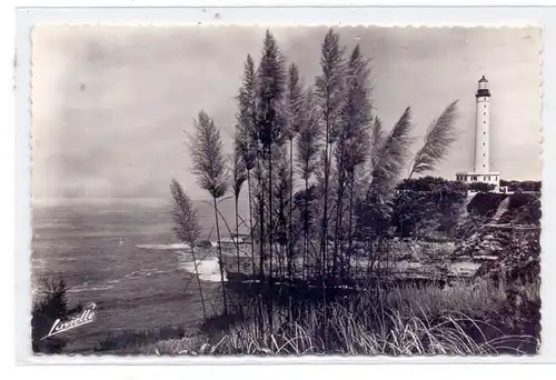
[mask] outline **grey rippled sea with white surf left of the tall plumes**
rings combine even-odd
[[[200,208],[202,236],[216,240],[214,216]],[[32,216],[32,290],[62,276],[70,307],[97,306],[97,320],[63,332],[70,352],[91,351],[125,330],[193,328],[202,318],[191,250],[173,236],[169,203],[160,200],[37,202]],[[226,236],[226,233],[222,233]],[[203,293],[220,281],[215,249],[198,249]],[[207,306],[210,309],[210,306]]]

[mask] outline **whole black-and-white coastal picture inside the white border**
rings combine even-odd
[[[537,354],[540,51],[36,24],[33,353]]]

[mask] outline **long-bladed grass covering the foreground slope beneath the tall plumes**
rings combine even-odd
[[[490,282],[460,283],[445,290],[400,288],[379,298],[329,302],[326,319],[321,306],[304,304],[298,308],[302,317],[294,321],[289,320],[290,309],[275,306],[272,332],[261,332],[256,321],[247,317],[229,330],[122,349],[150,354],[534,353],[539,343],[537,330],[527,328],[530,321],[520,321],[519,316],[524,314],[524,304],[539,308],[538,287],[523,284],[519,289],[520,301],[512,304],[507,289]],[[249,308],[244,308],[247,316]],[[538,323],[539,320],[534,322]]]

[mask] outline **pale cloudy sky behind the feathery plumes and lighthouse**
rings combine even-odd
[[[260,59],[262,27],[37,26],[32,32],[34,199],[168,198],[191,174],[186,133],[207,111],[231,146],[244,62]],[[327,27],[270,27],[305,83],[319,74]],[[370,59],[374,114],[390,129],[413,109],[416,151],[459,100],[458,139],[433,176],[473,170],[475,90],[490,84],[492,170],[539,180],[540,32],[534,28],[338,28]]]

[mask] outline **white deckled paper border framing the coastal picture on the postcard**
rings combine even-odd
[[[218,13],[218,17],[216,16]],[[247,364],[247,363],[478,363],[556,361],[556,9],[534,8],[119,8],[29,9],[17,13],[17,128],[16,128],[16,301],[17,358],[41,364]],[[30,126],[31,126],[31,27],[33,24],[143,24],[201,26],[334,26],[334,27],[542,27],[545,49],[543,87],[543,234],[540,354],[536,357],[138,357],[41,356],[30,350]],[[540,57],[539,57],[540,61]],[[540,67],[540,64],[539,64]],[[550,108],[550,104],[554,104]],[[540,110],[539,110],[540,111]],[[553,196],[554,194],[554,196]]]

